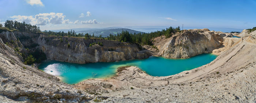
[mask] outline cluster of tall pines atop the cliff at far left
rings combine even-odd
[[[3,26],[3,25],[0,25]],[[9,28],[10,30],[18,30],[20,32],[41,32],[40,27],[37,27],[36,25],[26,24],[23,22],[18,21],[12,21],[12,20],[6,20],[4,23],[4,27]]]

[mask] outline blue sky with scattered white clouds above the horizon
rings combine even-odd
[[[0,0],[0,13],[1,24],[25,21],[41,30],[256,26],[256,0]]]

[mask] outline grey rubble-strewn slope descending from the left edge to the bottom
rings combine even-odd
[[[7,43],[5,44],[4,42]],[[76,90],[73,86],[60,82],[60,79],[53,75],[44,73],[34,66],[24,65],[20,53],[15,51],[13,46],[23,48],[23,45],[20,45],[20,41],[14,35],[6,32],[5,35],[1,33],[1,97],[7,96],[15,101],[31,102],[57,102],[58,99],[86,102],[93,98],[86,92]],[[0,99],[0,101],[2,100]],[[8,99],[3,101],[7,103],[13,102]]]

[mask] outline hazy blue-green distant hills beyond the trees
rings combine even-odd
[[[63,32],[68,32],[68,30],[70,31],[71,29],[59,29],[59,30],[51,30],[54,32],[59,32],[59,31],[63,31]],[[128,31],[129,33],[143,33],[140,31],[136,31],[136,30],[132,30],[132,29],[127,29],[127,28],[121,28],[121,27],[109,27],[109,28],[75,28],[72,29],[75,30],[76,33],[83,33],[83,34],[94,34],[95,36],[99,36],[102,35],[103,37],[107,37],[109,36],[109,34],[117,34],[117,33],[121,33],[123,30],[124,31]]]

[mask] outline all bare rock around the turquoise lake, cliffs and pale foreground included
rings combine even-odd
[[[255,102],[255,34],[255,31],[249,33],[244,30],[240,34],[241,38],[230,38],[233,34],[208,29],[184,30],[170,38],[154,38],[153,44],[157,48],[144,46],[146,50],[140,50],[137,45],[125,42],[65,37],[62,38],[64,41],[60,42],[60,38],[44,34],[2,32],[0,101]],[[68,85],[36,67],[24,65],[20,54],[12,46],[6,45],[5,42],[11,40],[15,40],[20,49],[31,46],[29,44],[38,44],[35,47],[43,50],[48,59],[76,63],[147,58],[149,55],[188,58],[213,52],[219,56],[207,65],[166,77],[150,76],[137,67],[121,67],[115,77],[89,79],[76,85]],[[98,41],[103,42],[103,46],[88,46],[91,42]],[[71,46],[67,47],[67,44]],[[128,49],[122,49],[124,47]]]

